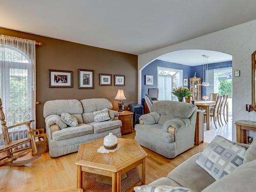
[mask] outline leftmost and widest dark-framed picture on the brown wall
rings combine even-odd
[[[73,71],[50,69],[49,88],[73,88]]]

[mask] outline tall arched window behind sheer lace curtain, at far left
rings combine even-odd
[[[7,126],[34,119],[31,65],[30,59],[24,52],[15,47],[0,44],[0,97]]]

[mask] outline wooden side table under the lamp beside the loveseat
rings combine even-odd
[[[118,112],[119,120],[122,121],[121,134],[133,132],[133,112],[123,111]]]

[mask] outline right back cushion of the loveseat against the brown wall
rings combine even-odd
[[[80,102],[82,103],[83,113],[99,111],[105,108],[112,109],[111,102],[108,99],[104,98],[83,99],[80,100]]]

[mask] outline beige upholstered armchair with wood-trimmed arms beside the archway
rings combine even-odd
[[[177,101],[158,101],[151,113],[140,116],[135,140],[167,158],[194,146],[197,107]]]

